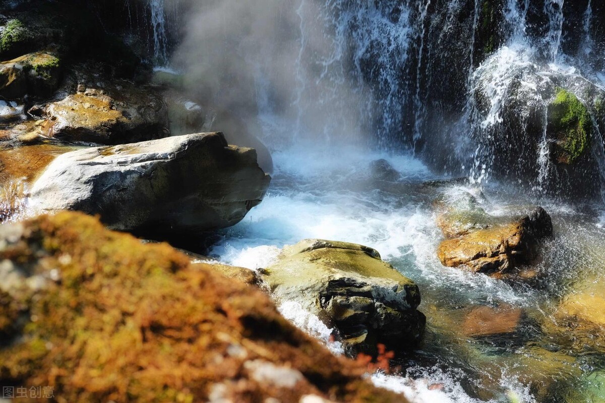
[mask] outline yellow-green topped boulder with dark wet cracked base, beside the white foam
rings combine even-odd
[[[284,247],[261,280],[277,301],[298,302],[358,349],[405,349],[424,333],[418,287],[367,246],[304,240]]]

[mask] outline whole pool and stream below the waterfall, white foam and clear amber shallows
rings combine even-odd
[[[554,220],[555,237],[546,242],[538,263],[543,280],[534,287],[508,284],[439,263],[436,247],[442,235],[431,209],[434,194],[420,185],[441,178],[418,160],[345,148],[335,157],[333,149],[313,149],[298,145],[273,154],[276,171],[267,197],[223,232],[211,251],[215,258],[255,269],[270,264],[285,244],[303,238],[366,244],[419,284],[419,309],[427,315],[424,344],[400,358],[404,372],[374,375],[376,384],[419,402],[603,401],[603,329],[597,329],[599,341],[599,334],[583,339],[581,329],[567,332],[554,325],[560,301],[584,288],[594,294],[592,283],[603,281],[605,233],[597,213],[522,200],[514,189],[497,185],[483,189],[493,214],[506,205],[539,202]],[[372,179],[369,164],[379,158],[387,159],[402,179]],[[468,336],[465,318],[478,306],[520,309],[520,324],[503,336]],[[328,339],[329,329],[297,307],[284,306],[282,312]]]

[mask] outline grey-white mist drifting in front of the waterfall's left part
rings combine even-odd
[[[338,30],[336,6],[186,2],[183,41],[171,62],[192,96],[216,111],[212,129],[232,136],[246,130],[270,148],[362,142],[372,95],[352,74],[350,38]]]

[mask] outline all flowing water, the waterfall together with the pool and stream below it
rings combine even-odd
[[[570,396],[584,396],[597,382],[592,379],[603,378],[602,347],[578,350],[562,335],[546,336],[546,329],[555,326],[554,312],[576,284],[589,287],[590,270],[603,267],[604,233],[594,215],[552,198],[563,193],[557,186],[574,182],[573,166],[557,159],[564,142],[552,129],[552,105],[560,98],[586,106],[592,123],[585,139],[590,151],[582,157],[586,172],[590,164],[605,172],[605,126],[597,113],[603,55],[593,28],[595,2],[580,11],[580,50],[569,39],[578,19],[569,4],[217,1],[194,18],[196,28],[209,31],[193,35],[182,53],[200,77],[194,82],[222,83],[204,97],[241,116],[258,114],[275,174],[263,203],[221,233],[209,253],[258,269],[302,238],[375,247],[419,284],[420,310],[428,317],[427,340],[404,362],[406,372],[374,376],[377,384],[417,401],[508,402],[512,393],[523,402],[580,402]],[[225,15],[234,20],[214,24]],[[241,30],[231,33],[230,25]],[[199,60],[192,62],[197,48]],[[233,96],[235,83],[241,91]],[[380,158],[401,179],[376,179],[371,162]],[[439,263],[442,235],[422,183],[444,179],[442,172],[480,184],[493,214],[537,200],[551,213],[557,235],[538,263],[549,274],[543,288]],[[477,192],[450,186],[447,196],[465,190]],[[465,336],[463,312],[476,304],[512,306],[523,312],[522,324],[493,340]],[[329,337],[296,307],[282,310]]]

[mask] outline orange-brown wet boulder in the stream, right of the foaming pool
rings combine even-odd
[[[466,192],[462,191],[464,195]],[[446,240],[437,248],[437,257],[448,267],[468,267],[473,272],[494,277],[518,274],[532,263],[545,237],[552,235],[552,220],[541,207],[510,208],[509,214],[494,216],[476,203],[476,197],[462,197],[468,205],[441,205],[437,225]],[[474,201],[475,200],[475,201]],[[525,270],[522,276],[535,277]]]

